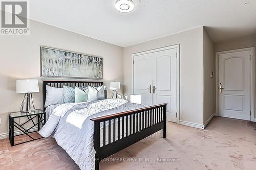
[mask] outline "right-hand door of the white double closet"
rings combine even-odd
[[[167,118],[177,122],[177,48],[152,53],[153,58],[153,105],[168,103]]]

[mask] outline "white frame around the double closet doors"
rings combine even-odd
[[[155,48],[153,50],[148,50],[148,51],[143,51],[143,52],[138,52],[138,53],[133,53],[132,54],[132,93],[134,92],[134,57],[142,55],[142,54],[147,54],[147,53],[154,53],[154,52],[159,52],[159,51],[164,51],[164,50],[170,50],[173,48],[177,48],[177,80],[176,80],[176,123],[180,122],[180,44],[175,44],[175,45],[170,45],[170,46],[165,46],[165,47],[160,47],[160,48]]]

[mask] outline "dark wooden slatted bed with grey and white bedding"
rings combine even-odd
[[[63,87],[63,85],[70,87],[87,87],[89,85],[97,87],[103,84],[104,82],[43,81],[44,103],[46,101],[47,85],[51,87]],[[106,99],[106,90],[104,90],[104,94],[104,98]],[[123,102],[123,104],[121,102]],[[71,124],[67,124],[68,119],[70,119],[69,116],[73,115],[77,110],[80,109],[81,111],[84,111],[88,110],[89,106],[91,108],[92,106],[100,106],[103,104],[109,109],[104,111],[101,109],[101,112],[84,119],[83,124],[79,124],[80,129],[77,128],[79,126],[75,127]],[[110,108],[111,104],[118,107]],[[76,105],[67,104],[65,106],[63,105],[63,107],[60,105],[57,106],[58,109],[51,110],[65,110],[66,106],[69,106],[73,110],[70,109],[67,111],[67,114],[63,115],[63,117],[59,116],[58,120],[49,118],[44,127],[42,127],[41,133],[44,134],[44,137],[49,136],[51,133],[51,136],[56,139],[60,147],[66,150],[81,169],[95,168],[98,170],[102,159],[129,147],[157,131],[163,130],[163,138],[165,138],[166,105],[167,104],[159,104],[145,107],[121,99],[106,99],[91,103],[79,103]],[[46,108],[44,108],[44,111],[46,111]],[[53,116],[53,114],[51,114],[49,117],[51,116],[54,117],[55,115]],[[73,121],[74,119],[72,118],[71,120]],[[57,124],[57,128],[49,126],[53,121],[55,122],[52,124]],[[48,131],[49,128],[51,128],[52,131]],[[46,135],[46,133],[48,133],[48,135]],[[91,138],[88,136],[91,136]],[[70,145],[72,147],[70,147]],[[87,153],[87,155],[85,153]],[[83,163],[85,160],[81,160],[81,158],[88,158],[88,155],[93,155],[93,161]]]

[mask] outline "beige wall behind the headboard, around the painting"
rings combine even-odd
[[[122,47],[31,20],[29,36],[0,37],[0,117],[2,118],[0,136],[8,132],[7,113],[19,110],[22,102],[23,95],[16,94],[16,80],[26,78],[43,80],[39,77],[40,45],[103,57],[102,81],[105,81],[105,85],[109,86],[112,80],[120,81],[121,84],[123,82]],[[33,94],[33,97],[35,106],[42,108],[41,82],[39,86],[40,93]]]

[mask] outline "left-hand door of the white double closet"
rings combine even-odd
[[[152,105],[152,54],[134,57],[134,94],[141,95],[141,104]]]

